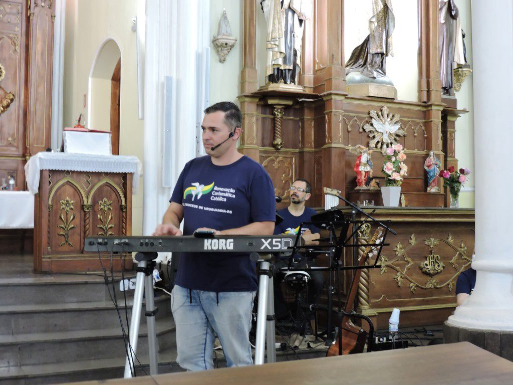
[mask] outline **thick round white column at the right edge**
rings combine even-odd
[[[511,0],[472,2],[477,280],[447,321],[468,329],[513,330],[512,21]]]

